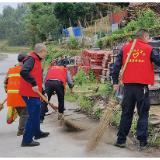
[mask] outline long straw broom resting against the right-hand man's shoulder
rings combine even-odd
[[[120,84],[120,82],[121,82],[122,75],[123,75],[123,73],[126,69],[127,63],[129,62],[129,58],[130,58],[130,55],[133,51],[135,43],[136,43],[136,39],[134,40],[133,45],[130,49],[130,52],[129,52],[128,57],[127,57],[126,62],[125,62],[125,65],[124,65],[123,70],[121,72],[118,84]],[[106,111],[105,111],[103,117],[101,118],[99,124],[96,126],[96,128],[95,128],[95,130],[94,130],[94,132],[91,136],[91,139],[87,143],[87,148],[86,148],[87,152],[93,150],[97,146],[97,144],[101,140],[105,130],[109,126],[109,118],[111,116],[112,109],[115,106],[115,100],[114,100],[115,93],[116,93],[116,91],[114,91],[114,93],[113,93],[113,95],[112,95],[112,97],[111,97],[111,99],[108,103],[108,107],[106,108]]]

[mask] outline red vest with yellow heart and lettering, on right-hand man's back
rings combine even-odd
[[[123,66],[133,44],[123,46]],[[145,41],[137,39],[136,45],[130,56],[126,70],[123,74],[123,83],[140,83],[154,85],[154,66],[150,60],[152,46]]]

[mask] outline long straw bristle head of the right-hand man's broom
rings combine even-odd
[[[114,104],[115,104],[114,99],[111,99],[103,117],[101,118],[100,122],[96,126],[91,136],[91,139],[87,143],[86,152],[90,152],[91,150],[93,150],[101,140],[105,130],[108,128],[109,118],[112,113],[112,108]]]

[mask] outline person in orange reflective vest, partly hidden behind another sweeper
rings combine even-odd
[[[19,95],[20,84],[20,70],[22,68],[22,61],[27,57],[26,53],[18,55],[18,64],[9,68],[8,73],[4,80],[4,88],[7,93],[7,106],[15,107],[19,115],[19,126],[17,136],[24,134],[28,113],[25,101]]]

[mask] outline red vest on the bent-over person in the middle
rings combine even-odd
[[[66,91],[66,80],[67,80],[67,68],[62,66],[52,66],[49,67],[48,75],[45,79],[45,83],[49,79],[59,79],[64,84],[64,89]]]

